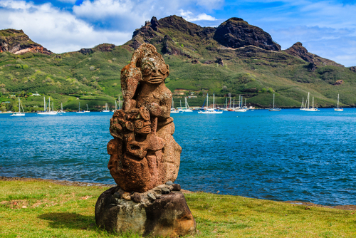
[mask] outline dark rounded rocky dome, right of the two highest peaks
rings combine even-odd
[[[268,51],[281,51],[281,46],[273,42],[270,34],[239,18],[231,18],[223,22],[216,29],[214,40],[230,48],[257,46]]]

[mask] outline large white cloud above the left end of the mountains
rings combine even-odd
[[[22,29],[35,42],[55,53],[78,51],[100,43],[122,44],[131,32],[98,31],[85,21],[51,4],[0,1],[0,29]]]

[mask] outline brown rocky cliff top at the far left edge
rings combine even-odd
[[[52,53],[40,44],[31,41],[22,30],[14,29],[0,31],[0,52],[6,51],[14,54],[32,52],[50,55]]]

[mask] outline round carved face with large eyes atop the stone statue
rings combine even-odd
[[[169,68],[163,57],[157,53],[142,58],[142,80],[147,83],[162,83],[169,76]]]

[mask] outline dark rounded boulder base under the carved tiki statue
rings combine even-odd
[[[135,192],[132,199],[140,196],[141,202],[120,196],[123,192],[120,187],[106,190],[95,205],[96,224],[109,232],[130,231],[143,236],[194,234],[196,223],[184,195],[177,191],[162,194],[162,191],[169,191],[167,187],[160,185],[145,193]]]

